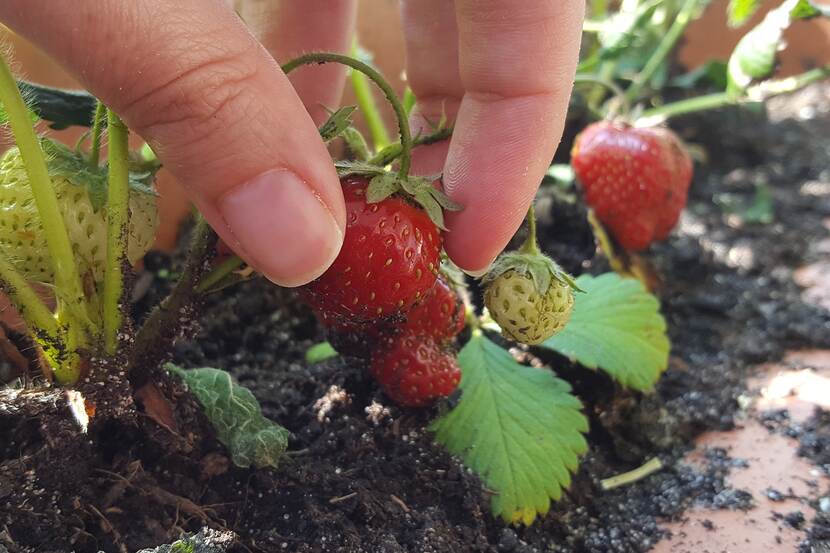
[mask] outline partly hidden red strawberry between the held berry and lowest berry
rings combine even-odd
[[[404,328],[446,343],[464,330],[464,318],[464,303],[446,278],[439,276],[426,299],[407,314]]]

